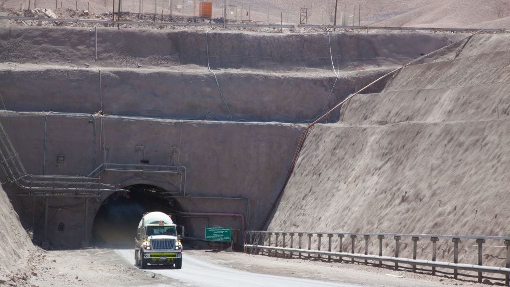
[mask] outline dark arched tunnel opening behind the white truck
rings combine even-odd
[[[165,190],[147,184],[124,187],[128,191],[116,192],[99,207],[92,226],[92,241],[96,245],[130,247],[135,245],[136,230],[143,214],[161,211],[171,214],[181,208],[175,200],[165,198]]]

